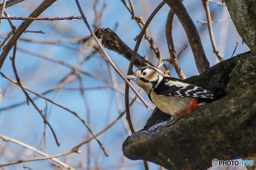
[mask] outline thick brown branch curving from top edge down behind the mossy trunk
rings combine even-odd
[[[166,4],[168,4],[169,7],[174,11],[180,23],[182,24],[195,58],[197,70],[200,74],[203,73],[210,66],[205,56],[205,52],[202,47],[202,43],[195,24],[189,17],[186,8],[180,0],[164,0],[164,2],[166,2]]]

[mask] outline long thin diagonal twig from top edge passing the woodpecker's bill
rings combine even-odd
[[[111,64],[111,66],[114,68],[114,70],[122,77],[122,79],[130,86],[130,88],[134,91],[134,93],[138,96],[138,98],[143,102],[143,104],[146,106],[147,109],[149,109],[148,104],[146,103],[146,101],[137,93],[137,91],[135,90],[135,88],[131,85],[131,83],[125,78],[125,76],[119,71],[119,69],[115,66],[115,64],[112,62],[112,60],[109,58],[108,54],[106,53],[106,51],[104,50],[104,48],[102,47],[101,43],[99,42],[98,38],[96,37],[96,35],[94,34],[94,32],[92,32],[90,25],[88,24],[86,17],[83,14],[83,11],[80,7],[80,4],[78,2],[78,0],[76,0],[77,3],[77,7],[79,9],[79,12],[81,14],[81,16],[83,17],[83,21],[86,24],[88,30],[90,31],[92,37],[94,38],[94,40],[96,41],[96,43],[98,44],[99,48],[101,49],[102,53],[104,54],[104,56],[106,57],[106,59],[108,59],[109,63]]]

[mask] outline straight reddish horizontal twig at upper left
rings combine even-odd
[[[59,17],[55,17],[55,18],[32,18],[32,17],[0,17],[1,19],[10,19],[10,20],[46,20],[46,21],[54,21],[54,20],[72,20],[72,19],[82,19],[82,17],[63,17],[63,18],[59,18]]]

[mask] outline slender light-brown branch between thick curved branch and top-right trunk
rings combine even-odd
[[[206,17],[207,17],[207,25],[208,25],[208,29],[209,29],[209,34],[210,34],[210,39],[211,39],[211,44],[212,44],[212,48],[213,48],[213,52],[216,54],[217,58],[220,61],[223,61],[223,58],[220,56],[220,53],[218,51],[215,39],[214,39],[214,35],[213,35],[213,30],[212,30],[212,22],[211,22],[211,13],[210,13],[210,9],[209,9],[209,0],[202,0],[202,4],[205,8],[205,12],[206,12]]]

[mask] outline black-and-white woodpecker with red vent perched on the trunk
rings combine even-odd
[[[163,77],[152,67],[141,67],[125,77],[140,86],[152,103],[171,115],[172,119],[183,117],[201,105],[214,101],[214,95],[209,91],[180,79]]]

